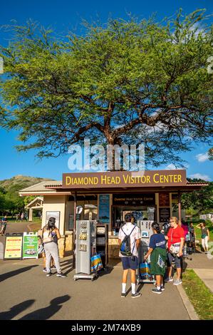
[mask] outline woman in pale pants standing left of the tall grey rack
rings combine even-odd
[[[56,228],[56,219],[55,217],[50,217],[48,220],[48,224],[43,227],[43,247],[46,255],[46,277],[51,276],[52,257],[57,270],[56,277],[66,277],[66,275],[61,272],[59,262],[58,239],[60,238],[60,232],[58,231],[58,228]]]

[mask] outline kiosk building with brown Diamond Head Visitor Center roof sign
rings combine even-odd
[[[108,224],[110,258],[119,253],[118,231],[126,212],[135,221],[167,222],[171,216],[185,218],[181,195],[207,186],[208,182],[188,182],[186,170],[146,170],[145,172],[64,173],[62,181],[44,181],[19,192],[19,195],[42,196],[42,227],[56,217],[62,238],[60,257],[73,249],[76,220],[98,220]],[[83,211],[76,214],[76,207]]]

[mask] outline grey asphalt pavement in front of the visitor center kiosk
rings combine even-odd
[[[94,282],[73,281],[70,257],[61,260],[61,266],[68,277],[46,277],[42,259],[1,260],[0,319],[189,319],[172,283],[160,295],[151,292],[152,284],[141,284],[142,297],[132,299],[129,292],[122,299],[119,264]]]

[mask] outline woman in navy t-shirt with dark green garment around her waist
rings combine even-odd
[[[165,275],[167,250],[165,235],[160,232],[160,225],[152,222],[153,235],[150,237],[150,245],[144,259],[150,257],[150,274],[156,278],[156,288],[152,289],[153,293],[161,294],[165,290],[163,277]]]

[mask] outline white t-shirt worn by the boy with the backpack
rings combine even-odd
[[[133,230],[134,227],[135,227],[135,229]],[[122,230],[120,228],[119,234],[118,234],[118,238],[121,239],[121,241],[123,241],[125,236],[129,235],[130,232],[132,232],[132,230],[133,230],[132,234],[130,234],[131,252],[133,253],[134,256],[138,257],[137,246],[136,246],[136,241],[135,240],[140,239],[140,237],[141,237],[140,236],[140,228],[133,225],[131,222],[127,222],[127,223],[125,223],[125,225],[123,225]],[[134,247],[134,244],[135,244],[135,247]],[[133,249],[133,247],[134,247],[134,249]],[[119,253],[119,256],[120,257],[125,257],[121,253]]]

